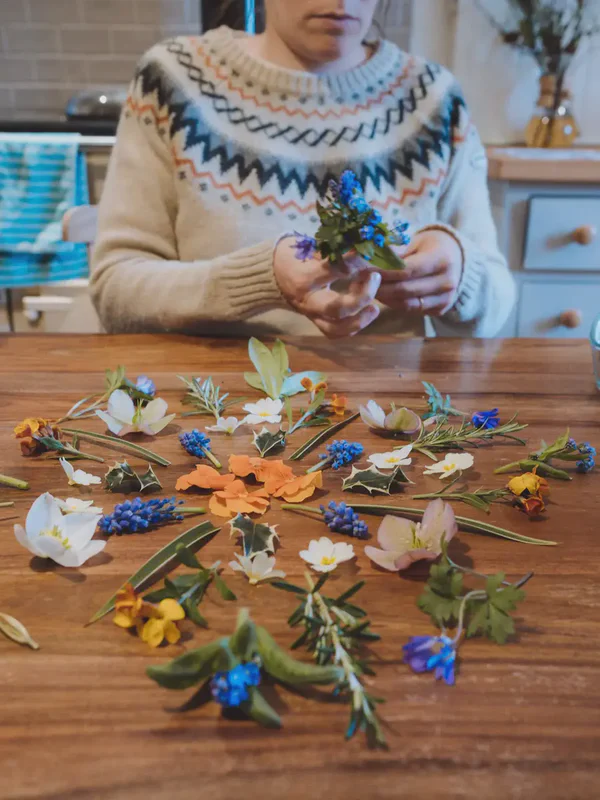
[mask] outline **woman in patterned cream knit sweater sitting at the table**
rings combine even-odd
[[[181,37],[139,64],[100,208],[92,291],[111,332],[494,336],[514,304],[486,160],[453,77],[387,41],[377,0],[266,0],[264,34]],[[407,269],[298,261],[352,169]],[[345,276],[343,289],[339,279]]]

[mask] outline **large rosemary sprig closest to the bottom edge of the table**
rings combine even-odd
[[[288,620],[290,627],[302,624],[304,632],[294,642],[292,649],[305,646],[313,653],[317,664],[335,664],[343,671],[343,679],[337,684],[335,694],[347,697],[351,702],[350,723],[346,739],[362,730],[371,747],[387,748],[381,724],[377,718],[376,705],[383,702],[373,697],[363,686],[364,675],[373,675],[373,670],[361,654],[365,642],[378,641],[379,636],[369,630],[362,608],[348,603],[362,587],[364,581],[352,586],[339,597],[326,597],[321,593],[328,575],[322,575],[315,584],[311,575],[305,573],[309,591],[288,583],[274,582],[272,585],[301,596],[300,605]]]

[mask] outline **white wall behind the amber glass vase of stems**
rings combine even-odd
[[[495,2],[505,7],[505,0]],[[454,70],[487,144],[523,141],[538,97],[538,69],[499,40],[473,0],[415,0],[411,41],[415,52]],[[582,132],[578,144],[600,144],[600,37],[580,51],[569,86]]]

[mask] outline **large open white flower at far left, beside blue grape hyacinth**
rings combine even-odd
[[[61,513],[51,494],[42,494],[27,514],[25,528],[15,525],[19,544],[40,558],[51,558],[62,567],[80,567],[106,547],[92,541],[101,514]]]

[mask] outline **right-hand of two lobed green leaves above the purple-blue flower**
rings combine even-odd
[[[515,632],[515,624],[510,616],[526,594],[515,586],[502,586],[505,575],[499,572],[487,579],[486,600],[475,600],[469,604],[472,616],[467,627],[467,636],[484,635],[497,644],[506,644]],[[474,609],[474,610],[473,610]]]

